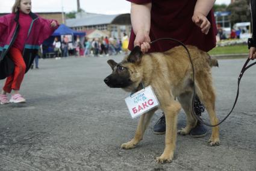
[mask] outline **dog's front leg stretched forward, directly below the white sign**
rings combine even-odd
[[[149,124],[149,121],[151,120],[151,117],[153,116],[156,110],[157,108],[154,108],[151,111],[148,111],[148,113],[142,114],[142,116],[140,116],[140,120],[136,129],[134,138],[131,141],[128,141],[127,143],[123,143],[121,145],[121,148],[123,149],[135,148],[135,146],[142,140],[144,132],[146,131],[146,128]]]

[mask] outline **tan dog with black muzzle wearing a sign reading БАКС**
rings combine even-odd
[[[211,125],[216,125],[218,119],[215,111],[216,96],[211,67],[218,66],[217,60],[195,46],[187,46],[187,48],[195,67],[196,95],[205,105]],[[166,117],[165,149],[163,154],[157,157],[157,162],[170,163],[175,151],[177,117],[181,107],[186,113],[187,123],[185,128],[178,131],[178,134],[189,134],[197,123],[196,118],[192,116],[193,69],[187,51],[183,46],[176,46],[166,52],[143,54],[140,47],[136,46],[120,63],[114,60],[108,60],[107,63],[113,70],[104,79],[109,87],[121,88],[126,92],[136,92],[143,89],[142,82],[145,87],[151,85],[160,103],[158,108],[164,112]],[[175,100],[176,98],[178,101]],[[140,116],[134,138],[123,143],[121,148],[135,148],[142,140],[146,127],[158,108]],[[208,144],[210,146],[220,145],[219,126],[212,128]]]

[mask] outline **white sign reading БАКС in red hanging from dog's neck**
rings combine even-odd
[[[159,105],[151,85],[125,98],[125,103],[132,118],[140,116]]]

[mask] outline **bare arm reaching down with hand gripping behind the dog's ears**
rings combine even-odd
[[[151,5],[151,3],[131,3],[131,25],[136,35],[134,46],[140,46],[143,53],[148,52],[148,49],[150,49]]]

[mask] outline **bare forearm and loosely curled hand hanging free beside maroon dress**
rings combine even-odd
[[[196,2],[194,14],[192,17],[193,22],[201,28],[202,33],[208,34],[211,23],[207,19],[207,15],[211,8],[213,8],[216,0],[198,0]]]

